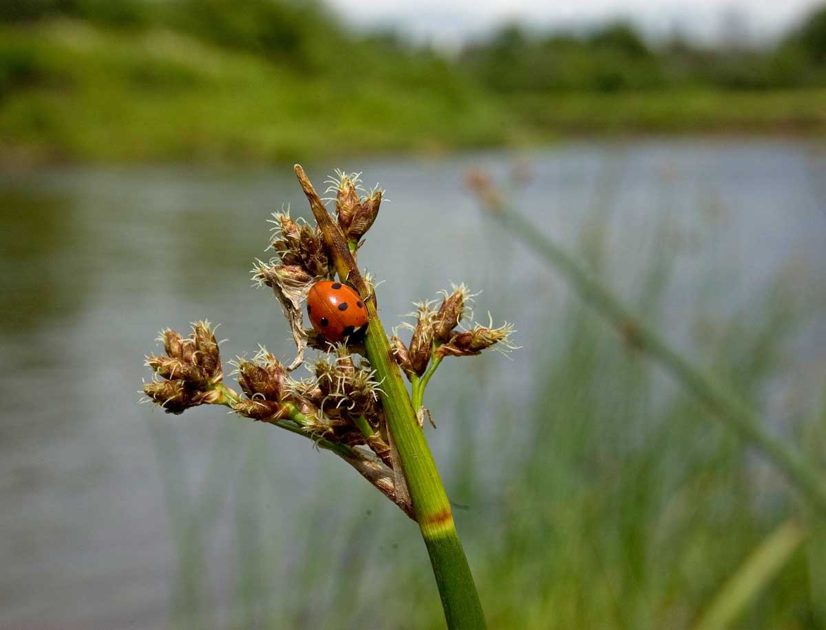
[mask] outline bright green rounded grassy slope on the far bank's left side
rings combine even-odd
[[[298,160],[501,142],[501,113],[438,61],[397,80],[301,72],[163,28],[0,27],[0,150],[31,160]]]

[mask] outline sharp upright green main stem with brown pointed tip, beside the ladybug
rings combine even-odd
[[[367,284],[358,271],[344,235],[327,213],[304,169],[300,165],[296,165],[295,169],[339,278],[355,287],[368,308],[365,351],[371,367],[376,370],[377,380],[382,384],[380,395],[387,417],[387,428],[401,459],[401,467],[413,499],[415,520],[419,523],[421,536],[430,555],[448,628],[485,628],[482,604],[453,523],[448,496],[425,440],[425,433],[416,420],[401,370],[393,359],[387,333],[378,318],[376,301],[374,298],[368,299]]]

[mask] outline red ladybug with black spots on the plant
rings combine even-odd
[[[330,280],[312,285],[307,294],[307,315],[316,332],[333,343],[362,332],[368,322],[367,308],[358,294],[346,284]]]

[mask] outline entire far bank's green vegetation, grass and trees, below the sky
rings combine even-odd
[[[299,160],[564,133],[826,130],[826,11],[771,50],[506,26],[456,60],[314,3],[10,0],[0,156]]]

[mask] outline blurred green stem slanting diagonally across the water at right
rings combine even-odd
[[[767,461],[781,470],[819,513],[826,516],[826,484],[819,472],[782,441],[773,437],[762,426],[747,403],[737,394],[714,384],[710,376],[672,350],[653,328],[635,317],[618,298],[615,298],[610,289],[601,284],[555,242],[544,236],[533,222],[513,208],[506,207],[504,203],[491,203],[490,206],[491,215],[513,236],[525,242],[553,265],[580,298],[611,322],[629,345],[657,360],[678,383],[705,403],[726,427],[752,444]]]

